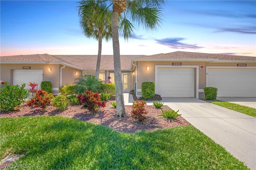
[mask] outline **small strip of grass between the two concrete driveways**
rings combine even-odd
[[[214,101],[211,102],[212,104],[216,104],[218,106],[222,106],[225,108],[228,108],[230,110],[238,111],[240,113],[244,113],[246,115],[250,115],[253,117],[256,117],[256,109],[248,106],[242,106],[239,104],[234,104],[230,102],[222,102],[222,101]]]

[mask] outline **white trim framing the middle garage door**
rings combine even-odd
[[[199,98],[199,66],[198,65],[184,65],[184,66],[172,66],[172,65],[156,65],[155,66],[155,86],[157,87],[157,69],[158,68],[196,68],[196,98]],[[194,77],[195,78],[195,77]],[[156,91],[158,93],[158,91]]]

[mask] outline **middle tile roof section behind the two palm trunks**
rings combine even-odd
[[[97,64],[97,55],[54,55],[58,59],[62,59],[72,63],[85,70],[95,70]],[[131,61],[134,58],[142,57],[142,55],[120,55],[122,70],[130,70]],[[114,70],[113,55],[102,55],[100,60],[100,70]]]

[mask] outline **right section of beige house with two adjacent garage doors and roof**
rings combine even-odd
[[[136,95],[142,82],[154,82],[162,97],[204,98],[204,87],[218,88],[218,97],[256,97],[256,57],[191,53],[132,59]]]

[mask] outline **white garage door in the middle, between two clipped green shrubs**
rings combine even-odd
[[[156,81],[162,97],[194,97],[194,68],[158,68]]]

